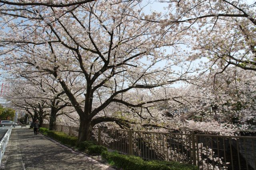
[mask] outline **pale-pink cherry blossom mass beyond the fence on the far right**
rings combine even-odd
[[[214,75],[214,72],[205,74],[188,87],[173,91],[172,96],[176,97],[160,104],[160,110],[167,117],[163,119],[166,124],[162,127],[224,135],[254,129],[254,71],[230,67],[216,78],[215,83]],[[168,120],[174,120],[174,123],[167,123]]]

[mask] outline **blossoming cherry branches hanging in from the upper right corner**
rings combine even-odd
[[[193,44],[188,61],[207,59],[206,69],[221,68],[216,75],[230,65],[256,71],[255,3],[178,0],[170,1],[168,8],[171,13],[162,21],[166,27],[177,23],[188,30],[188,42]]]

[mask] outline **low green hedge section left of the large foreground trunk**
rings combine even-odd
[[[78,138],[75,136],[68,136],[64,132],[58,132],[54,130],[48,130],[48,136],[70,146],[76,146],[76,142],[78,140]]]

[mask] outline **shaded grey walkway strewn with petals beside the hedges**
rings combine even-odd
[[[12,129],[1,169],[113,170],[31,129]]]

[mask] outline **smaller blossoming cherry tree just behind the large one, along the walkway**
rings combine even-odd
[[[40,123],[43,122],[43,119],[49,117],[50,130],[54,130],[56,127],[56,118],[62,114],[68,112],[73,112],[72,109],[66,109],[65,107],[72,107],[69,103],[68,98],[66,97],[62,87],[54,79],[47,75],[40,75],[38,72],[33,74],[28,74],[25,71],[15,72],[12,74],[12,79],[8,79],[8,82],[11,86],[11,93],[5,95],[6,99],[10,99],[14,105],[26,109],[26,111],[32,115],[32,120],[40,119]],[[74,80],[71,86],[77,82]],[[77,91],[79,93],[80,90]],[[31,103],[34,101],[33,103]],[[40,108],[40,105],[37,103],[42,103],[46,112],[50,109],[50,113],[44,114],[43,119],[41,119],[42,114],[34,114],[30,112],[28,108],[36,108],[34,111],[37,111]],[[36,103],[36,104],[35,104]],[[35,104],[35,105],[33,105]],[[37,107],[38,106],[38,107]],[[60,112],[60,110],[62,110]]]

